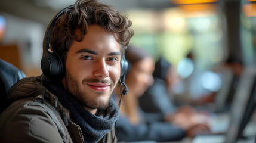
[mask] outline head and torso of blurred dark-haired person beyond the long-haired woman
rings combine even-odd
[[[139,98],[140,107],[149,113],[174,113],[177,110],[172,96],[169,94],[169,87],[172,84],[172,66],[161,57],[155,63],[153,72],[154,83]]]

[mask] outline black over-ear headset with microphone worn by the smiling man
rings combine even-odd
[[[64,8],[60,12],[58,12],[53,19],[50,21],[50,24],[48,24],[47,30],[45,31],[44,41],[43,41],[43,57],[41,59],[41,69],[42,72],[47,77],[62,77],[64,76],[65,67],[63,64],[63,61],[61,60],[61,57],[54,51],[49,51],[50,49],[50,36],[51,36],[51,30],[53,30],[53,27],[55,25],[55,22],[60,18],[60,16],[63,14],[64,11],[66,11],[69,8],[73,8],[74,5],[70,5],[69,7]],[[122,91],[123,95],[126,95],[128,92],[128,88],[125,85],[125,75],[127,74],[128,70],[128,62],[125,59],[125,57],[122,57],[121,60],[121,74],[119,78],[119,82],[121,85],[124,85],[124,90]]]

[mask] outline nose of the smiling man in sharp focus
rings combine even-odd
[[[93,74],[95,77],[101,77],[103,79],[109,76],[109,71],[107,70],[107,64],[105,60],[97,61]]]

